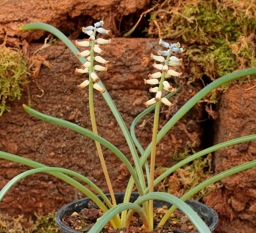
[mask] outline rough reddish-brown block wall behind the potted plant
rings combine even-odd
[[[56,26],[70,39],[82,39],[82,26],[104,19],[104,28],[110,29],[113,37],[120,36],[122,32],[131,29],[149,5],[148,0],[99,0],[93,3],[76,0],[72,3],[62,1],[61,4],[54,1],[7,0],[0,9],[0,43],[4,41],[6,34],[7,45],[21,46],[27,44],[27,41],[28,56],[32,57],[49,33],[41,30],[20,32],[18,29],[24,24],[38,21]],[[138,30],[140,29],[139,25]],[[140,37],[140,33],[135,31],[132,36]],[[106,52],[104,58],[110,63],[108,71],[99,72],[99,76],[129,128],[134,117],[145,109],[143,102],[153,97],[143,79],[154,72],[153,61],[149,60],[150,53],[156,53],[161,47],[158,46],[158,40],[147,38],[113,38],[109,46],[103,47]],[[23,49],[25,51],[25,46]],[[30,96],[32,108],[91,129],[88,91],[77,89],[77,85],[85,79],[85,75],[75,74],[75,68],[81,65],[79,61],[61,42],[38,51],[37,55],[49,61],[52,67],[42,64],[38,76],[30,80],[28,89],[24,88],[20,101],[9,103],[11,112],[5,112],[0,117],[0,150],[47,166],[75,170],[108,193],[92,140],[71,130],[37,120],[23,110],[21,105],[27,104]],[[180,57],[184,60],[179,68],[183,76],[181,79],[172,79],[171,82],[172,86],[182,86],[182,90],[172,98],[175,105],[171,110],[166,107],[161,109],[159,130],[180,106],[202,88],[201,82],[186,84],[190,71],[187,64],[192,62],[186,61],[184,55]],[[186,148],[191,149],[192,145],[197,151],[228,139],[255,133],[255,84],[231,86],[221,94],[214,121],[207,121],[204,103],[194,106],[158,143],[156,167],[173,165],[172,154],[175,150],[183,153]],[[113,143],[132,161],[115,118],[101,94],[94,93],[100,136]],[[151,141],[152,116],[153,113],[149,113],[136,127],[136,134],[144,149]],[[215,152],[212,154],[212,169],[218,173],[255,159],[255,146],[255,141],[251,141]],[[103,153],[114,191],[125,191],[130,177],[128,170],[108,149],[103,148]],[[0,189],[14,176],[28,169],[30,168],[27,166],[0,160]],[[255,232],[255,172],[255,168],[252,168],[223,179],[222,187],[204,198],[206,204],[219,214],[220,223],[216,232],[230,232],[231,230],[227,231],[228,227],[237,232]],[[0,208],[3,213],[13,216],[29,216],[34,211],[46,214],[83,197],[84,194],[70,185],[50,174],[42,173],[15,184],[1,201]]]

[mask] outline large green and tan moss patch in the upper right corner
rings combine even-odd
[[[183,40],[192,63],[190,81],[211,80],[256,66],[256,4],[250,0],[158,2],[149,35]]]

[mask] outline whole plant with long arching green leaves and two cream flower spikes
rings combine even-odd
[[[211,92],[213,89],[217,88],[218,86],[226,82],[229,82],[233,79],[256,74],[256,68],[249,68],[242,71],[234,72],[232,74],[223,76],[213,81],[208,86],[205,86],[201,91],[199,91],[196,95],[194,95],[186,104],[184,104],[180,108],[180,110],[178,110],[176,114],[174,114],[174,116],[172,116],[172,118],[164,125],[164,127],[160,130],[160,132],[157,132],[160,105],[164,104],[164,105],[167,105],[169,108],[172,108],[173,103],[169,101],[169,98],[173,94],[175,94],[175,92],[178,90],[176,87],[173,88],[172,86],[170,86],[170,84],[168,83],[167,80],[165,80],[165,78],[170,78],[171,76],[180,77],[182,75],[181,72],[174,71],[173,69],[170,68],[172,66],[180,66],[180,64],[182,63],[182,59],[176,56],[173,56],[172,53],[183,52],[183,49],[180,47],[179,42],[172,44],[172,43],[167,43],[165,41],[162,41],[160,39],[159,44],[161,44],[164,47],[164,49],[158,50],[157,55],[151,54],[150,56],[151,59],[154,59],[157,62],[157,64],[155,63],[153,65],[154,68],[157,69],[157,71],[153,74],[149,74],[148,79],[144,79],[145,85],[158,85],[155,87],[150,87],[150,92],[156,93],[156,95],[154,98],[144,102],[144,105],[147,107],[147,109],[144,112],[142,112],[138,117],[135,118],[135,120],[131,125],[131,133],[130,133],[126,125],[124,124],[124,121],[121,115],[119,114],[114,102],[112,101],[110,95],[106,91],[105,86],[103,85],[99,76],[96,73],[96,71],[107,71],[107,67],[104,65],[108,64],[108,61],[105,60],[103,57],[101,57],[104,54],[104,51],[101,49],[101,44],[109,44],[111,42],[110,39],[106,40],[102,38],[97,38],[96,33],[109,34],[110,32],[109,30],[102,28],[102,26],[103,26],[103,21],[99,21],[95,23],[94,26],[83,27],[82,30],[85,34],[89,35],[89,39],[86,41],[79,41],[79,42],[76,41],[76,45],[87,47],[90,49],[85,49],[82,52],[76,49],[76,47],[71,43],[71,41],[68,40],[68,38],[64,34],[62,34],[60,31],[58,31],[56,28],[50,25],[43,24],[43,23],[33,23],[33,24],[28,24],[26,26],[21,27],[21,30],[44,29],[51,32],[52,34],[55,34],[78,57],[78,59],[82,63],[82,66],[79,69],[76,68],[76,72],[89,74],[89,79],[86,79],[84,82],[78,85],[78,88],[82,90],[84,88],[86,89],[88,86],[88,89],[89,89],[89,107],[90,107],[90,117],[92,122],[92,132],[76,124],[73,124],[71,122],[42,114],[34,109],[29,108],[26,105],[23,105],[23,107],[29,114],[37,117],[38,119],[67,127],[91,139],[94,139],[110,194],[106,196],[100,190],[99,187],[93,184],[92,181],[90,181],[88,178],[82,176],[81,174],[75,171],[63,169],[63,168],[47,167],[44,164],[40,164],[38,162],[22,158],[18,155],[9,154],[6,152],[0,152],[0,158],[19,162],[34,168],[32,170],[28,170],[19,174],[18,176],[14,177],[10,182],[8,182],[4,186],[4,188],[0,191],[0,200],[3,198],[5,193],[12,187],[12,185],[18,182],[23,177],[26,177],[28,175],[31,175],[37,172],[48,172],[66,181],[67,183],[73,185],[77,189],[79,189],[81,192],[87,195],[94,203],[96,203],[96,205],[104,213],[100,217],[99,221],[95,222],[95,224],[89,230],[90,233],[100,232],[101,229],[108,222],[110,222],[113,229],[122,229],[124,227],[127,229],[130,225],[130,221],[134,212],[137,212],[140,215],[145,231],[146,232],[153,231],[154,229],[154,214],[153,214],[154,201],[153,200],[161,200],[161,201],[165,201],[165,203],[172,204],[172,206],[170,205],[169,210],[164,213],[164,215],[161,218],[161,221],[157,224],[157,226],[159,227],[163,226],[165,222],[168,220],[169,216],[171,216],[175,211],[175,209],[178,207],[180,210],[184,212],[184,214],[188,216],[188,218],[196,226],[199,232],[201,233],[211,232],[214,228],[209,229],[209,227],[204,223],[204,221],[200,218],[200,216],[196,213],[196,211],[193,208],[191,208],[185,201],[196,192],[220,180],[221,178],[230,176],[234,173],[237,173],[244,169],[248,169],[255,166],[256,161],[247,162],[237,167],[234,167],[232,169],[229,169],[227,171],[221,172],[220,174],[215,175],[205,180],[204,182],[200,183],[195,188],[191,189],[185,195],[180,197],[180,199],[168,193],[154,192],[154,187],[156,186],[156,184],[161,182],[165,177],[170,175],[172,172],[174,172],[176,169],[180,168],[181,166],[187,164],[188,162],[191,162],[198,157],[201,157],[205,154],[211,153],[213,151],[216,151],[224,147],[228,147],[228,146],[235,145],[237,143],[241,143],[245,141],[255,140],[256,135],[248,135],[238,139],[229,140],[227,142],[223,142],[213,147],[197,152],[189,156],[188,158],[182,160],[181,162],[178,162],[173,167],[169,168],[162,175],[160,175],[155,179],[154,169],[155,169],[155,160],[156,160],[156,144],[163,138],[166,132],[168,132],[172,128],[172,126],[182,116],[184,116],[189,109],[191,109],[198,101],[200,101],[205,95],[207,95],[209,92]],[[98,64],[96,64],[96,62]],[[164,63],[164,64],[161,64],[161,63]],[[163,93],[162,93],[163,89],[169,92],[169,94],[167,94],[166,96],[163,96]],[[93,107],[93,91],[94,90],[100,91],[102,93],[102,96],[104,97],[110,110],[114,114],[122,132],[124,133],[124,137],[127,141],[128,147],[131,151],[132,158],[135,164],[134,167],[131,165],[131,163],[127,160],[127,158],[124,156],[124,154],[122,154],[122,152],[118,148],[116,148],[113,144],[111,144],[110,142],[108,142],[107,140],[103,139],[98,135],[94,107]],[[141,147],[139,141],[135,136],[134,127],[135,127],[135,124],[138,122],[138,120],[151,110],[155,110],[152,142],[148,145],[148,147],[145,150],[143,150],[143,148]],[[127,190],[124,193],[124,196],[122,197],[121,201],[117,201],[117,196],[119,194],[116,196],[113,191],[113,188],[108,176],[108,169],[106,167],[103,153],[101,150],[101,145],[107,147],[113,153],[115,153],[122,160],[122,162],[124,162],[125,166],[131,173],[131,178],[127,185]],[[140,156],[135,146],[137,147],[140,153]],[[150,165],[147,162],[147,158],[149,154],[150,154]],[[145,166],[145,170],[146,170],[146,180],[144,178],[144,172],[142,169],[143,166]],[[91,190],[89,190],[88,188],[86,188],[84,185],[74,180],[73,178],[67,176],[66,174],[72,175],[74,177],[81,179],[83,182],[91,186],[92,190],[95,193],[98,193],[99,196],[95,195]],[[131,193],[132,193],[132,188],[134,184],[136,185],[138,194],[137,196],[135,195],[135,199],[130,201],[132,198]],[[121,216],[119,216],[119,213],[121,213]],[[207,213],[205,214],[205,216],[207,216]],[[59,216],[58,217],[59,220],[61,220],[62,217],[63,216]],[[216,220],[215,218],[213,222],[215,222],[215,225],[216,225],[218,220]],[[57,223],[58,224],[60,223],[58,219],[57,219]],[[67,232],[67,231],[63,230],[63,232]],[[70,232],[76,232],[76,231],[70,230]]]

